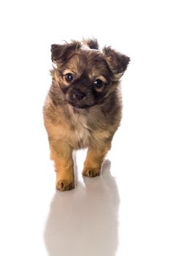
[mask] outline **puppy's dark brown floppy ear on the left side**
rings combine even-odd
[[[55,62],[66,61],[80,46],[80,42],[77,41],[66,42],[65,45],[51,45],[51,59]]]

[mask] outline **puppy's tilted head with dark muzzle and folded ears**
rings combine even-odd
[[[96,39],[51,46],[55,80],[75,108],[100,104],[115,90],[130,59],[110,47],[98,50]]]

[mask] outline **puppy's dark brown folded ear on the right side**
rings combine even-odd
[[[130,58],[122,53],[118,53],[111,47],[105,47],[103,49],[103,54],[105,59],[107,60],[107,63],[109,64],[110,69],[112,69],[115,78],[121,78],[121,76],[125,72],[125,69],[127,69],[128,67]]]

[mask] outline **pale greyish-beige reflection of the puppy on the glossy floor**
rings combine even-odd
[[[119,195],[109,160],[102,176],[84,178],[71,192],[56,192],[45,227],[50,256],[114,256],[118,242]]]

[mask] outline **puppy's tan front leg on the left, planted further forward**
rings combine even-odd
[[[74,189],[74,162],[72,147],[63,140],[50,143],[51,159],[57,174],[56,188],[61,191]]]

